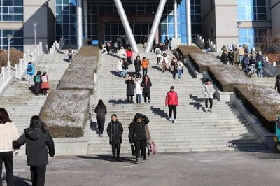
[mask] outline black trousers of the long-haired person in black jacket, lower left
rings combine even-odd
[[[32,186],[45,185],[46,166],[30,166]]]

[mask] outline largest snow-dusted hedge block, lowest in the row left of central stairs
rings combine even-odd
[[[83,136],[89,115],[89,90],[50,92],[40,117],[55,138]]]

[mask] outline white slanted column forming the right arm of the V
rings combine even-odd
[[[155,14],[155,20],[153,21],[153,26],[148,37],[145,52],[150,52],[153,48],[153,41],[155,40],[155,33],[157,32],[158,26],[160,25],[160,19],[162,18],[163,10],[165,9],[165,3],[167,0],[160,0],[158,5],[157,13]]]

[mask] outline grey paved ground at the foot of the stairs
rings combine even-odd
[[[131,155],[50,159],[45,185],[279,185],[280,155],[258,152],[158,154],[144,164]],[[15,158],[16,185],[30,184],[26,159]],[[6,186],[4,184],[4,186]]]

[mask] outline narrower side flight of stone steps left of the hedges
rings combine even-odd
[[[64,71],[69,66],[64,58],[66,58],[66,50],[64,53],[44,55],[41,61],[35,64],[36,71],[40,70],[48,73],[50,78],[50,90],[48,92],[56,89]],[[39,115],[47,98],[47,96],[32,94],[29,90],[31,85],[34,85],[34,82],[28,80],[13,81],[5,94],[0,97],[0,106],[8,111],[10,119],[15,123],[20,135],[25,128],[29,127],[31,116]]]

